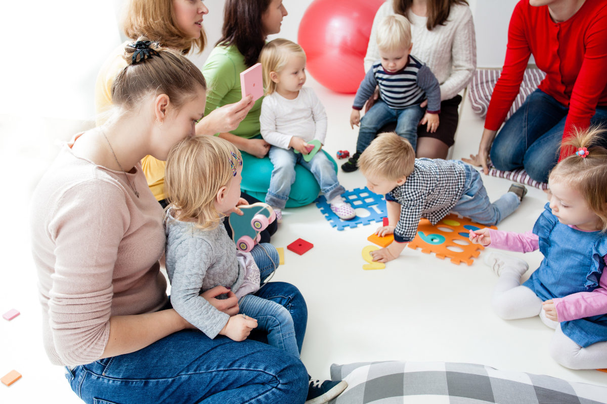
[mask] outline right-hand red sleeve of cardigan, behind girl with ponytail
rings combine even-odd
[[[599,97],[607,85],[607,7],[603,7],[586,28],[586,52],[569,101],[563,139],[572,136],[574,127],[586,129],[595,114]],[[573,154],[572,147],[561,150],[560,159]]]

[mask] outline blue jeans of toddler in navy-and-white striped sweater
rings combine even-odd
[[[396,134],[407,139],[415,150],[417,147],[417,127],[419,121],[424,118],[425,112],[426,108],[421,108],[419,105],[395,110],[379,99],[361,119],[356,152],[362,153],[365,151],[375,139],[379,128],[390,122],[396,122]]]

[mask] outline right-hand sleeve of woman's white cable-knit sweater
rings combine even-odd
[[[464,18],[455,30],[451,55],[453,67],[451,75],[441,85],[441,101],[452,99],[472,80],[476,70],[476,36],[474,21],[469,7],[464,8]]]

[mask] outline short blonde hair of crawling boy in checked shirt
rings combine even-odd
[[[358,168],[365,176],[377,175],[391,181],[409,177],[415,168],[415,150],[398,134],[381,133],[362,152]]]

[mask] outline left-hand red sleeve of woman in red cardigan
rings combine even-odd
[[[510,18],[506,61],[500,79],[493,89],[487,118],[485,119],[485,128],[489,130],[498,130],[506,119],[506,115],[512,107],[512,102],[517,98],[527,62],[529,56],[531,56],[531,48],[529,42],[527,42],[523,21],[524,2],[524,0],[518,2],[512,13],[512,18]]]

